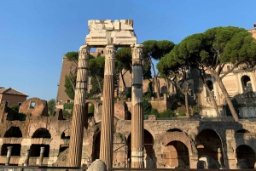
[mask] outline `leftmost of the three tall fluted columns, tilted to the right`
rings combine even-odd
[[[70,167],[80,167],[81,165],[84,134],[85,94],[87,92],[87,68],[89,53],[89,46],[83,45],[79,48],[79,64],[74,96],[73,117],[71,124],[71,134],[68,153],[68,165]]]

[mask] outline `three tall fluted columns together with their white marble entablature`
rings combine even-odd
[[[90,33],[79,49],[79,66],[74,98],[73,119],[69,147],[69,166],[79,167],[83,145],[85,94],[87,92],[90,48],[105,48],[105,71],[102,105],[100,159],[112,168],[114,60],[119,47],[132,50],[132,113],[131,113],[131,167],[143,168],[143,45],[137,44],[133,20],[89,20]]]

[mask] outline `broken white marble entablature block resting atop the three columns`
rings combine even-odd
[[[133,20],[88,20],[88,27],[90,33],[85,37],[85,44],[90,47],[137,44]]]

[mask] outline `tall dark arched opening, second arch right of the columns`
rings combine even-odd
[[[204,129],[196,136],[196,148],[198,151],[198,158],[206,158],[204,160],[207,168],[220,168],[224,164],[222,142],[218,134],[212,129]]]

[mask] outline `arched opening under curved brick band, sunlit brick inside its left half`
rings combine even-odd
[[[169,142],[163,153],[166,157],[166,168],[189,168],[189,150],[183,142]]]

